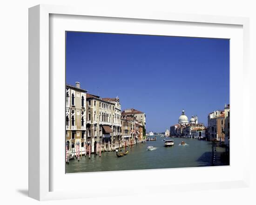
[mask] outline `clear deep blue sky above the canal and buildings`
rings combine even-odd
[[[66,82],[77,81],[145,112],[147,131],[165,131],[182,109],[207,125],[229,103],[229,39],[67,32]]]

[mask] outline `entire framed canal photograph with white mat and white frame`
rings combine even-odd
[[[248,186],[248,45],[246,18],[30,8],[29,196]]]

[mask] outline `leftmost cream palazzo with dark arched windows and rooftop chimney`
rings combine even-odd
[[[86,141],[86,95],[87,90],[80,88],[80,83],[75,86],[66,84],[66,144],[69,155],[74,157],[75,147],[79,144],[84,153]]]

